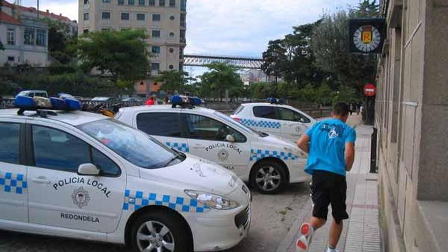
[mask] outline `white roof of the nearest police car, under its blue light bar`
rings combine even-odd
[[[10,109],[0,109],[0,117],[8,117],[8,118],[28,118],[30,116],[34,116],[36,114],[35,111],[25,111],[23,116],[17,115],[17,108]],[[62,110],[50,110],[57,113],[57,116],[47,115],[47,118],[44,120],[54,120],[63,123],[70,124],[72,126],[77,126],[93,121],[98,121],[102,119],[108,119],[100,114],[94,114],[84,111],[62,111]]]

